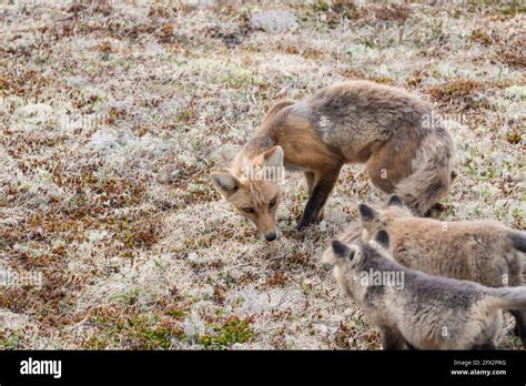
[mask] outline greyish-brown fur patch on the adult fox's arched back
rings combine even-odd
[[[406,130],[423,136],[427,130],[422,123],[432,110],[429,103],[403,90],[350,81],[295,103],[291,113],[308,118],[326,143],[351,153],[395,133],[404,135]]]

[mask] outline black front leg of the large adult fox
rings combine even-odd
[[[303,211],[302,219],[296,226],[297,231],[303,230],[320,219],[323,206],[325,206],[327,197],[337,181],[340,169],[341,166],[330,170],[325,173],[320,173],[317,175],[316,173],[314,174],[314,183],[312,189],[310,189],[308,201],[305,205],[305,210]],[[307,180],[308,185],[308,177],[306,174],[305,179]]]

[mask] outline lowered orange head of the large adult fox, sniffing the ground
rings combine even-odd
[[[254,223],[266,241],[280,237],[276,211],[281,192],[276,175],[282,173],[283,149],[273,146],[252,159],[235,175],[231,170],[212,171],[215,189],[245,217]],[[277,172],[276,172],[277,171]]]

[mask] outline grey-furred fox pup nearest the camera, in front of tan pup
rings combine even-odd
[[[500,309],[526,309],[526,287],[431,276],[397,264],[388,244],[380,231],[350,246],[333,241],[326,255],[340,287],[380,327],[384,349],[495,349]],[[402,281],[378,283],[373,275]]]

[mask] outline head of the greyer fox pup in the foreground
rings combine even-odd
[[[351,245],[337,240],[331,243],[330,263],[334,264],[334,276],[342,291],[356,301],[364,295],[366,284],[361,280],[367,268],[374,267],[374,260],[392,258],[390,236],[386,231],[380,231],[371,241],[358,241]]]

